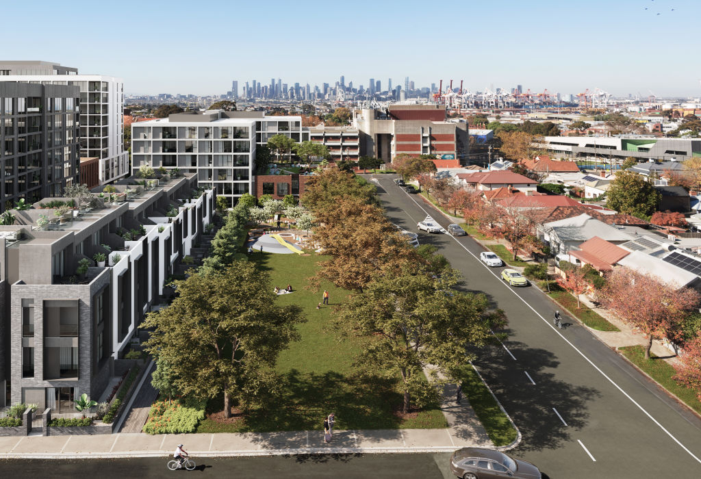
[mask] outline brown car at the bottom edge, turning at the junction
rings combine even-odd
[[[450,470],[463,479],[543,477],[535,464],[514,459],[503,452],[479,447],[463,447],[456,450],[450,458]]]

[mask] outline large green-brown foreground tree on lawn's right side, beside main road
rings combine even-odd
[[[374,338],[359,360],[374,372],[400,376],[404,413],[412,403],[421,407],[437,400],[437,380],[426,383],[426,365],[454,380],[451,373],[470,359],[465,347],[489,339],[489,301],[453,290],[457,282],[456,272],[431,277],[400,270],[374,280],[341,306],[336,328],[343,335]]]

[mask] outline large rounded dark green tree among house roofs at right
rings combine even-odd
[[[657,209],[660,198],[652,183],[625,169],[617,172],[609,183],[606,207],[620,213],[650,216]]]

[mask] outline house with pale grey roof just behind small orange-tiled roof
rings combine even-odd
[[[538,228],[538,239],[550,245],[552,254],[569,253],[571,249],[591,240],[594,236],[620,244],[632,239],[629,233],[607,225],[588,214],[580,214],[559,221],[550,221]]]

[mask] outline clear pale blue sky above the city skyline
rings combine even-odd
[[[645,10],[645,8],[648,10]],[[674,11],[672,11],[674,8]],[[660,13],[660,15],[657,15]],[[121,76],[128,93],[368,78],[701,96],[699,0],[9,1],[4,60]]]

